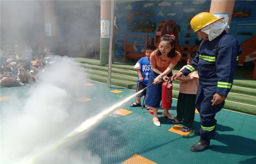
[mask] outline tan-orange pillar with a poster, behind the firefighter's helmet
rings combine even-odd
[[[212,0],[210,13],[214,14],[216,17],[224,17],[224,20],[230,25],[234,5],[235,0]]]

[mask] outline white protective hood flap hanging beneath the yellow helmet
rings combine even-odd
[[[230,28],[224,20],[210,24],[209,26],[201,29],[202,32],[208,35],[209,41],[220,35],[225,29]]]

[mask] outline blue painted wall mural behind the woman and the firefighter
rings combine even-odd
[[[200,12],[209,12],[211,1],[209,0],[148,0],[137,1],[131,3],[116,3],[115,17],[116,26],[119,30],[115,30],[115,55],[123,55],[124,35],[145,36],[154,38],[156,29],[163,20],[174,20],[179,29],[179,46],[185,45],[186,34],[188,32],[189,21],[193,16]],[[232,21],[230,24],[231,35],[234,35],[242,46],[251,47],[250,51],[244,51],[244,59],[248,53],[256,53],[256,0],[236,0]],[[254,40],[254,41],[252,41]],[[141,43],[145,40],[128,40],[130,43]],[[193,30],[190,32],[189,47],[199,44]],[[133,46],[129,51],[140,49],[143,47]],[[183,48],[180,48],[182,50]],[[251,59],[246,58],[245,61],[253,60],[256,56],[252,55]],[[243,61],[239,61],[243,63]]]

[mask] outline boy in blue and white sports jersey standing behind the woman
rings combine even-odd
[[[140,90],[144,89],[148,85],[148,78],[149,73],[151,72],[151,66],[150,66],[150,55],[151,53],[156,49],[155,46],[149,45],[146,47],[146,56],[143,58],[140,58],[139,61],[135,64],[134,68],[137,69],[138,73],[138,80],[137,80],[137,86],[136,86],[136,92],[139,92]],[[146,90],[140,93],[136,96],[137,101],[135,103],[131,104],[131,107],[135,106],[141,106],[140,100],[142,96],[146,95]],[[149,109],[149,108],[146,108]]]

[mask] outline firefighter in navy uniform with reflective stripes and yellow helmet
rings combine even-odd
[[[198,40],[203,41],[192,63],[175,73],[171,80],[198,70],[196,108],[200,113],[201,129],[194,130],[194,133],[201,137],[190,150],[201,152],[209,148],[210,139],[215,135],[215,114],[224,106],[224,100],[232,87],[241,47],[238,40],[225,31],[229,28],[228,24],[208,12],[197,14],[190,25]]]

